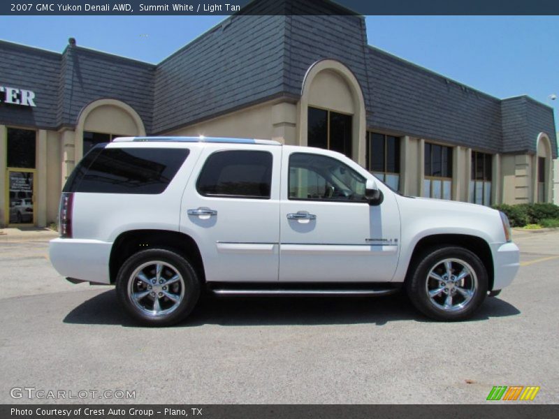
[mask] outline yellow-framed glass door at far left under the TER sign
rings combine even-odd
[[[8,168],[8,196],[6,197],[6,224],[18,226],[35,223],[34,169]]]

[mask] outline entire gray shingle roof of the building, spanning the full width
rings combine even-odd
[[[296,100],[308,68],[336,59],[361,85],[370,129],[488,152],[535,152],[544,131],[557,155],[551,108],[525,96],[500,101],[371,47],[361,16],[300,15],[310,3],[288,3],[295,15],[233,15],[157,66],[82,47],[57,54],[0,41],[0,82],[34,90],[37,102],[32,110],[0,105],[0,123],[72,126],[88,103],[116,98],[138,112],[148,134],[166,133],[270,98]]]

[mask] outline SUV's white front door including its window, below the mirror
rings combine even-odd
[[[391,281],[400,238],[393,194],[370,206],[364,170],[319,152],[286,151],[279,281]]]

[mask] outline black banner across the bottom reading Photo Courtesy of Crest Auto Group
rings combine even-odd
[[[551,419],[558,405],[446,404],[446,405],[313,405],[313,404],[27,404],[0,405],[2,419]]]

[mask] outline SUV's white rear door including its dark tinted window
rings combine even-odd
[[[277,281],[281,156],[279,145],[205,145],[180,230],[198,243],[207,281]]]

